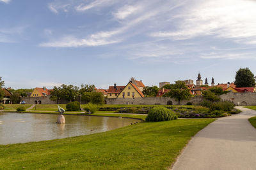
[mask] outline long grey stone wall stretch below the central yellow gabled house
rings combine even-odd
[[[201,96],[192,97],[188,101],[181,101],[180,104],[198,104],[202,101]],[[138,97],[134,99],[129,98],[112,98],[106,99],[106,104],[157,104],[157,105],[178,105],[179,103],[170,97]]]

